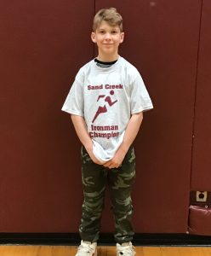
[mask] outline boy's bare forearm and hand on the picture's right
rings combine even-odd
[[[134,139],[138,134],[138,131],[140,130],[140,125],[142,123],[142,120],[143,120],[142,112],[134,113],[131,116],[124,134],[123,143],[117,149],[117,152],[114,155],[114,157],[111,160],[107,161],[106,164],[104,164],[105,167],[109,167],[110,169],[117,168],[122,164],[125,154],[128,152],[128,148],[134,142]]]

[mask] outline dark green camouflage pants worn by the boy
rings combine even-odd
[[[100,235],[100,218],[108,185],[111,208],[115,219],[114,238],[118,243],[133,239],[131,219],[133,206],[131,190],[135,179],[134,148],[128,149],[123,164],[115,169],[94,164],[82,148],[83,213],[79,227],[81,239],[97,241]]]

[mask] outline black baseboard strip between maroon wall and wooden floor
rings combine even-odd
[[[78,245],[76,233],[0,233],[0,244]],[[111,233],[101,234],[100,245],[114,245]],[[211,246],[211,236],[188,234],[135,234],[136,246]]]

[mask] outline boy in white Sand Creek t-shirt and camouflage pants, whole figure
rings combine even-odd
[[[118,55],[123,19],[117,9],[100,9],[91,38],[98,56],[77,73],[62,108],[71,119],[82,148],[83,214],[77,256],[96,255],[106,183],[115,218],[117,256],[135,254],[131,243],[131,189],[135,177],[132,143],[153,108],[140,73]]]

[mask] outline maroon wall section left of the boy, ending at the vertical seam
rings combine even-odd
[[[1,1],[0,12],[0,232],[77,231],[80,146],[60,108],[93,57],[94,2]]]

